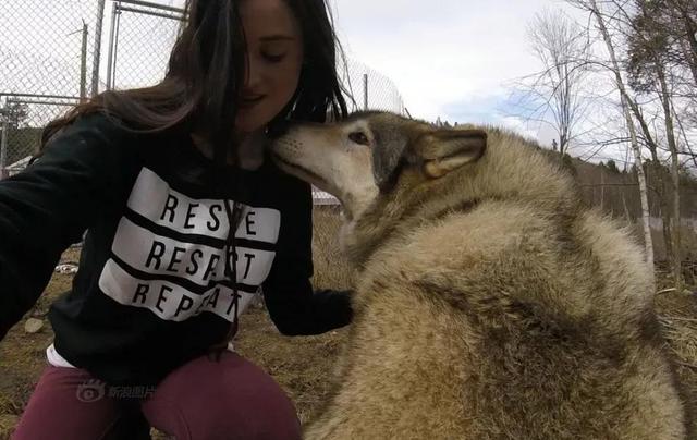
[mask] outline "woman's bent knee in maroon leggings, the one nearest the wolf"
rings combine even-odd
[[[154,426],[173,435],[172,429],[179,430],[182,438],[301,437],[295,407],[281,387],[233,353],[223,354],[220,362],[199,358],[174,371],[144,412]]]

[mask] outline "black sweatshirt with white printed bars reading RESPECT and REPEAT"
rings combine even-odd
[[[0,181],[0,339],[33,306],[62,252],[85,235],[70,292],[49,319],[58,353],[112,384],[156,384],[224,341],[261,286],[284,334],[351,320],[344,292],[314,293],[311,192],[270,160],[235,194],[183,131],[134,134],[83,117],[24,172]],[[236,252],[224,203],[241,204]]]

